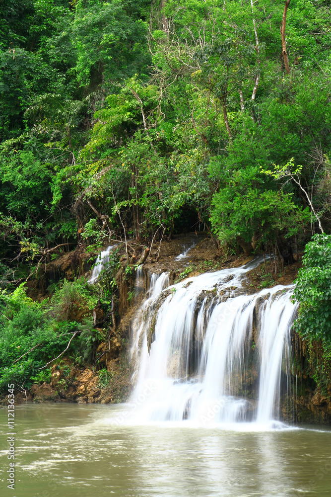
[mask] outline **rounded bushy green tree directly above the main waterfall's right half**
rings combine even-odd
[[[253,248],[281,255],[281,239],[300,232],[307,212],[294,204],[291,194],[270,189],[256,166],[225,173],[223,182],[210,216],[221,242],[237,242],[245,255]]]

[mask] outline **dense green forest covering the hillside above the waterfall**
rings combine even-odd
[[[281,256],[330,232],[329,2],[291,0],[286,58],[275,0],[0,7],[2,287],[81,242],[206,229]]]

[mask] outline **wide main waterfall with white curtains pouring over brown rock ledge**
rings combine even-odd
[[[293,286],[245,295],[241,283],[259,262],[172,286],[166,273],[152,276],[133,323],[138,420],[267,426],[279,418],[296,307]]]

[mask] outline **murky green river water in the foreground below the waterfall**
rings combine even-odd
[[[331,431],[112,424],[123,406],[16,408],[15,492],[1,497],[331,496]]]

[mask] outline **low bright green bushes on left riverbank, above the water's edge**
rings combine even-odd
[[[66,281],[53,296],[51,309],[49,303],[46,306],[27,297],[24,285],[9,295],[0,290],[0,391],[7,383],[30,388],[33,382],[49,381],[50,371],[40,368],[66,349],[75,331],[80,336],[72,340],[68,351],[81,361],[92,359],[100,333],[93,330],[90,318],[81,323],[64,321],[73,306],[83,313],[95,306],[95,297],[83,281]]]

